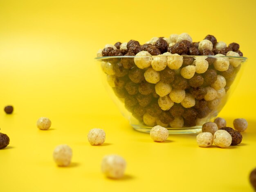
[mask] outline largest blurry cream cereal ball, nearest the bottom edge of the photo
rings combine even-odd
[[[118,155],[106,155],[101,161],[101,171],[107,177],[112,179],[120,179],[124,176],[126,169],[126,161]]]

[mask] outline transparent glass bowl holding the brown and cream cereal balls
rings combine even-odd
[[[247,58],[159,55],[98,57],[95,60],[108,93],[135,130],[148,133],[153,126],[162,125],[170,134],[189,134],[200,132],[204,123],[218,115],[238,84]],[[186,67],[189,65],[193,67]],[[194,76],[200,77],[187,79],[193,76],[194,70]],[[216,74],[218,81],[214,82]],[[182,76],[186,79],[180,78]],[[164,86],[159,83],[156,88],[159,78]],[[197,85],[200,88],[196,88]]]

